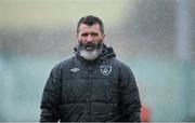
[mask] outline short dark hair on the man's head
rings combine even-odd
[[[79,26],[80,24],[86,24],[88,26],[92,26],[94,24],[99,24],[100,25],[100,29],[101,32],[104,33],[104,24],[102,22],[101,18],[93,16],[93,15],[88,15],[88,16],[83,16],[79,19],[78,24],[77,24],[77,33],[79,32]]]

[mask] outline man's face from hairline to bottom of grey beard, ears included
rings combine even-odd
[[[101,32],[99,24],[92,26],[81,24],[77,33],[80,55],[87,60],[95,59],[102,52],[104,37],[105,35]]]

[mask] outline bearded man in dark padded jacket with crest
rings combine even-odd
[[[76,55],[57,64],[47,81],[40,121],[140,121],[135,79],[104,44],[102,20],[80,18],[76,37]]]

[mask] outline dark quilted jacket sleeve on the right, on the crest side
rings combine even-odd
[[[141,100],[134,76],[128,66],[120,69],[120,121],[141,121]]]

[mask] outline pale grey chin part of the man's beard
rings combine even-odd
[[[99,57],[99,55],[100,55],[99,50],[93,50],[93,51],[81,50],[80,51],[80,56],[82,56],[87,60],[94,60]]]

